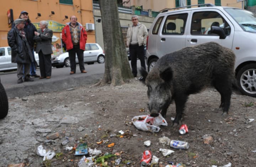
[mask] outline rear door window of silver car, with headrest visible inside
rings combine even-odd
[[[187,16],[188,16],[187,13],[168,16],[164,23],[162,34],[169,34],[169,35],[184,34],[184,30],[187,22]]]

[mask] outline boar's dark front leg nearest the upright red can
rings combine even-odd
[[[188,99],[187,95],[175,95],[174,101],[175,101],[175,105],[176,105],[176,116],[175,119],[173,121],[173,126],[177,126],[178,124],[180,124],[180,120],[182,117],[182,112],[185,108],[185,103]]]

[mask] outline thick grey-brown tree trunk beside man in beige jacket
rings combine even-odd
[[[122,85],[133,78],[119,22],[117,0],[99,0],[103,41],[105,48],[105,73],[98,85]]]

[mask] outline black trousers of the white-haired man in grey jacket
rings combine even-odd
[[[51,54],[44,55],[42,50],[38,53],[41,77],[52,76]]]

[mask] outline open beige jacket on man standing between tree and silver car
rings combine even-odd
[[[137,39],[139,46],[146,45],[146,38],[148,37],[148,30],[144,24],[138,23],[138,33],[137,33]],[[129,26],[127,30],[127,45],[130,45],[130,42],[132,41],[132,27]]]

